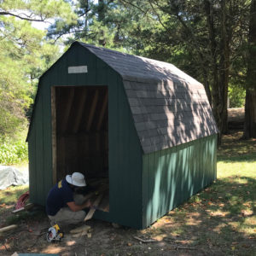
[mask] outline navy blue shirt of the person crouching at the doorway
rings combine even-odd
[[[46,200],[47,215],[55,216],[62,207],[67,207],[67,202],[70,201],[73,201],[73,190],[64,178],[49,190]]]

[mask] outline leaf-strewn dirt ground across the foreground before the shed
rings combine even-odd
[[[256,255],[253,254],[254,249],[256,252],[254,236],[242,236],[229,230],[226,224],[229,218],[225,219],[223,214],[211,216],[206,214],[207,209],[198,207],[190,212],[189,207],[193,205],[195,203],[183,205],[186,212],[183,209],[169,212],[146,230],[113,227],[113,224],[92,219],[86,223],[92,228],[91,238],[73,238],[70,228],[65,230],[62,241],[54,243],[46,241],[49,228],[46,217],[23,221],[16,230],[0,236],[0,255],[15,252],[57,253],[60,256]],[[154,241],[144,243],[135,237]],[[238,245],[242,251],[233,252]]]

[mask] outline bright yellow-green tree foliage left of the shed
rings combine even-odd
[[[3,3],[2,3],[3,2]],[[76,19],[64,0],[7,0],[0,5],[0,134],[15,137],[26,130],[39,76],[60,55],[46,32],[32,20]]]

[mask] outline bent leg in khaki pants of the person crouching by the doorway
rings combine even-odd
[[[68,207],[63,207],[59,212],[55,214],[55,216],[49,216],[51,222],[55,222],[56,224],[60,224],[61,226],[68,224],[78,224],[82,222],[85,218],[85,212],[73,212]]]

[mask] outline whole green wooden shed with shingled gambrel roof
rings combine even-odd
[[[170,63],[73,43],[38,82],[30,197],[72,172],[108,178],[108,212],[143,229],[216,179],[218,129],[204,86]]]

